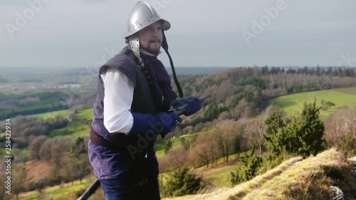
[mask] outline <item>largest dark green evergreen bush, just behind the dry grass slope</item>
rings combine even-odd
[[[324,125],[319,119],[320,107],[316,107],[315,102],[305,102],[300,116],[293,117],[288,123],[283,122],[278,112],[268,117],[264,137],[271,157],[278,157],[283,150],[308,157],[327,148]]]

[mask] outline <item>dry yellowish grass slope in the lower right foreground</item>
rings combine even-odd
[[[329,149],[316,157],[304,160],[300,157],[289,159],[266,174],[234,186],[234,188],[209,189],[205,191],[205,194],[164,200],[330,199],[329,186],[333,180],[327,175],[333,175],[335,172],[345,174],[347,172],[345,169],[350,169],[350,162],[347,162],[340,152]],[[350,180],[347,181],[349,181],[348,184],[356,185],[356,180],[352,183]]]

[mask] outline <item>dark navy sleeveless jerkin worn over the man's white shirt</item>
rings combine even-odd
[[[127,47],[124,48],[124,51],[127,51]],[[145,67],[155,80],[155,95],[152,95],[150,86],[147,83],[147,78],[140,68],[138,68],[135,60],[124,53],[119,53],[108,60],[108,62],[100,68],[100,74],[105,73],[108,68],[115,68],[120,70],[121,73],[125,74],[127,78],[134,83],[134,95],[131,105],[132,112],[155,114],[157,112],[166,111],[169,108],[169,103],[177,98],[177,95],[172,91],[170,77],[156,56],[147,56],[143,53],[141,53],[141,55],[145,61]],[[95,132],[99,137],[104,138],[105,142],[100,144],[100,142],[90,140],[88,149],[90,164],[92,164],[94,168],[96,177],[98,177],[98,179],[112,179],[120,177],[122,174],[127,175],[135,171],[137,162],[128,154],[127,146],[132,145],[139,147],[140,145],[137,145],[139,140],[137,135],[128,136],[125,133],[110,133],[106,130],[103,124],[103,87],[103,80],[99,75],[97,100],[93,107],[94,117],[91,135]],[[117,91],[117,93],[120,93],[120,91]],[[156,101],[153,100],[153,96],[156,97]],[[157,103],[157,97],[162,97],[160,105]],[[142,135],[143,134],[144,133],[142,133]],[[135,154],[135,158],[140,160],[145,157],[144,163],[138,163],[150,165],[148,167],[152,170],[153,177],[157,177],[158,162],[155,156],[154,144],[155,140],[151,141],[145,149],[142,149],[142,153]],[[147,166],[143,167],[145,167],[145,169],[147,168]]]

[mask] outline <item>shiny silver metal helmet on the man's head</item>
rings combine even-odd
[[[125,31],[123,38],[132,36],[142,28],[150,26],[152,23],[162,21],[162,28],[167,31],[171,28],[171,24],[164,19],[159,18],[157,11],[152,8],[145,1],[138,1],[132,9],[129,19],[127,21],[127,31]]]

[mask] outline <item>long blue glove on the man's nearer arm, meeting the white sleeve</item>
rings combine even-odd
[[[182,118],[174,113],[160,112],[152,115],[132,112],[131,114],[134,122],[127,135],[145,134],[152,131],[156,134],[167,134],[167,132],[172,132],[177,122],[182,122]]]

